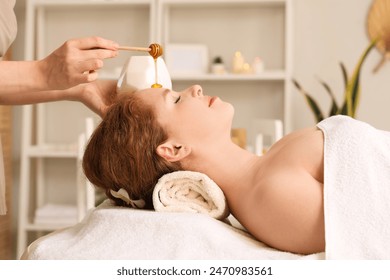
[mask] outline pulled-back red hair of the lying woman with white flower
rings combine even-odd
[[[134,94],[120,98],[92,134],[83,157],[88,180],[115,201],[110,190],[124,188],[133,200],[144,199],[152,209],[152,193],[158,179],[166,173],[181,170],[156,153],[167,140],[151,106]]]

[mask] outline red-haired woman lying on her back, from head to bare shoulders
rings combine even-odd
[[[324,135],[293,132],[256,156],[231,141],[234,108],[194,85],[144,89],[113,104],[86,147],[83,168],[117,205],[123,188],[153,208],[158,179],[177,170],[208,175],[231,213],[258,240],[281,251],[325,251]],[[131,207],[131,205],[129,205]]]

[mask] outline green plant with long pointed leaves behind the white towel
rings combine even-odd
[[[370,51],[375,46],[377,40],[372,40],[368,47],[364,50],[362,55],[360,56],[358,63],[355,66],[355,69],[352,73],[352,76],[348,78],[347,70],[343,63],[340,63],[343,79],[344,79],[344,85],[345,85],[345,91],[344,91],[344,100],[341,106],[338,105],[336,101],[336,97],[329,87],[327,83],[320,80],[320,83],[325,88],[326,92],[331,98],[331,108],[328,113],[328,117],[333,115],[347,115],[352,118],[355,117],[356,111],[359,105],[360,100],[360,72],[363,65],[364,60],[366,59],[367,55],[370,53]],[[318,105],[317,101],[306,91],[302,88],[302,86],[293,79],[293,84],[295,87],[299,90],[299,92],[304,96],[306,102],[308,103],[311,111],[314,114],[314,117],[317,122],[322,121],[324,118],[326,118],[326,115],[322,112],[320,106]]]

